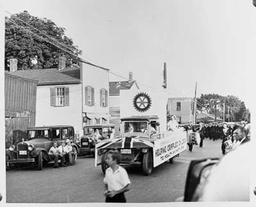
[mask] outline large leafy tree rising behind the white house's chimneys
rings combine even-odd
[[[42,38],[21,29],[10,22],[10,20],[73,54],[81,54],[81,50],[74,45],[72,39],[65,36],[65,28],[56,26],[56,24],[49,19],[33,17],[29,15],[28,11],[23,11],[21,13],[12,15],[10,18],[6,17],[5,19],[6,68],[8,68],[8,59],[10,58],[18,59],[19,70],[33,68],[56,68],[58,66],[58,57],[61,55],[67,57],[67,66],[79,65],[79,59],[77,57],[58,49],[58,47],[46,42],[45,40],[42,40]],[[47,36],[44,36],[44,34],[39,33],[36,31],[36,29],[29,27],[24,22],[35,27],[47,36],[54,38],[54,40],[60,43],[56,43],[50,38],[47,38]]]

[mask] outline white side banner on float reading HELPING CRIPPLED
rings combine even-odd
[[[153,148],[154,167],[166,162],[187,149],[186,132],[171,134],[166,138],[155,141]]]

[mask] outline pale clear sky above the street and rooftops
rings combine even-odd
[[[252,108],[256,7],[251,0],[12,1],[65,27],[88,61],[161,88],[167,63],[172,97],[235,95]],[[8,15],[8,13],[6,13]],[[110,74],[110,81],[123,81]]]

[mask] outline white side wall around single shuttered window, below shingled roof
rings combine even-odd
[[[67,84],[58,86],[38,86],[36,96],[36,126],[72,125],[80,135],[82,129],[82,84]],[[69,105],[63,107],[51,106],[51,88],[68,87]]]

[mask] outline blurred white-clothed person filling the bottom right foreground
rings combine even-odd
[[[212,169],[199,201],[250,201],[251,153],[246,143],[225,155]]]

